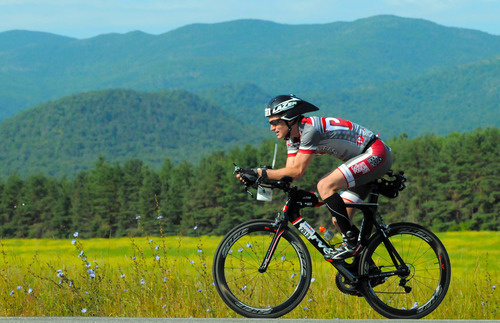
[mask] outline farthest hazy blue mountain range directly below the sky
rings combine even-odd
[[[500,36],[396,16],[316,25],[237,20],[83,40],[3,32],[0,120],[62,96],[111,88],[203,91],[251,83],[273,94],[351,91],[499,53]]]

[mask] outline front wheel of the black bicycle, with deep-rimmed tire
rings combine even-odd
[[[311,283],[309,251],[286,228],[264,273],[258,271],[271,239],[273,221],[253,220],[231,230],[214,256],[213,277],[222,300],[236,313],[252,318],[276,318],[293,310]]]

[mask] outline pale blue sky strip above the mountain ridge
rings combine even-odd
[[[500,0],[0,0],[0,32],[76,38],[252,18],[286,24],[353,21],[380,14],[422,18],[500,35]]]

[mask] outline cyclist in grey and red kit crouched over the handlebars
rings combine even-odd
[[[369,182],[382,177],[392,165],[390,148],[372,131],[350,121],[332,117],[305,117],[319,110],[294,95],[279,95],[269,101],[265,116],[271,131],[287,142],[286,166],[280,169],[245,169],[237,177],[245,184],[259,177],[298,180],[316,155],[329,154],[344,163],[318,182],[318,193],[332,214],[343,243],[325,258],[332,261],[355,256],[360,251],[359,229],[352,224],[354,209],[344,201],[359,203],[369,193]],[[343,190],[341,194],[340,192]]]

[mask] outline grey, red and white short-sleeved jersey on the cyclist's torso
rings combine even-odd
[[[288,157],[297,153],[329,154],[346,161],[362,154],[376,135],[355,123],[340,118],[304,117],[300,137],[287,142]]]

